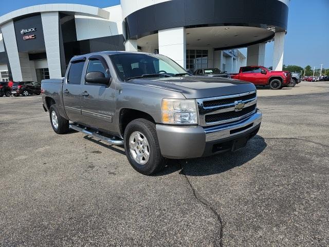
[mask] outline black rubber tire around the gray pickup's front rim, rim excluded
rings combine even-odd
[[[146,137],[149,144],[149,160],[141,165],[137,163],[130,150],[130,137],[134,132],[140,132]],[[124,149],[131,166],[144,175],[152,175],[159,172],[166,164],[166,158],[161,155],[155,124],[146,119],[135,119],[131,121],[124,131]]]

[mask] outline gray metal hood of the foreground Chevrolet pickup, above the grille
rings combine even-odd
[[[217,97],[256,90],[255,86],[249,82],[209,76],[140,78],[130,82],[180,92],[187,99]]]

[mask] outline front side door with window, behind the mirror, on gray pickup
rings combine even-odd
[[[85,74],[101,72],[111,78],[106,60],[99,55],[90,56],[87,60]],[[115,131],[113,117],[115,112],[115,85],[89,83],[84,79],[81,96],[81,112],[84,123],[103,131]]]

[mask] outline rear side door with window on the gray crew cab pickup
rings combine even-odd
[[[85,58],[72,60],[63,82],[63,103],[66,115],[73,122],[81,122],[82,72]]]

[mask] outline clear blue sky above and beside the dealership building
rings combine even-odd
[[[6,1],[0,15],[37,4],[75,3],[101,8],[120,4],[120,0],[15,0]],[[273,42],[266,45],[265,66],[272,65]],[[284,64],[307,64],[329,68],[329,0],[291,0]]]

